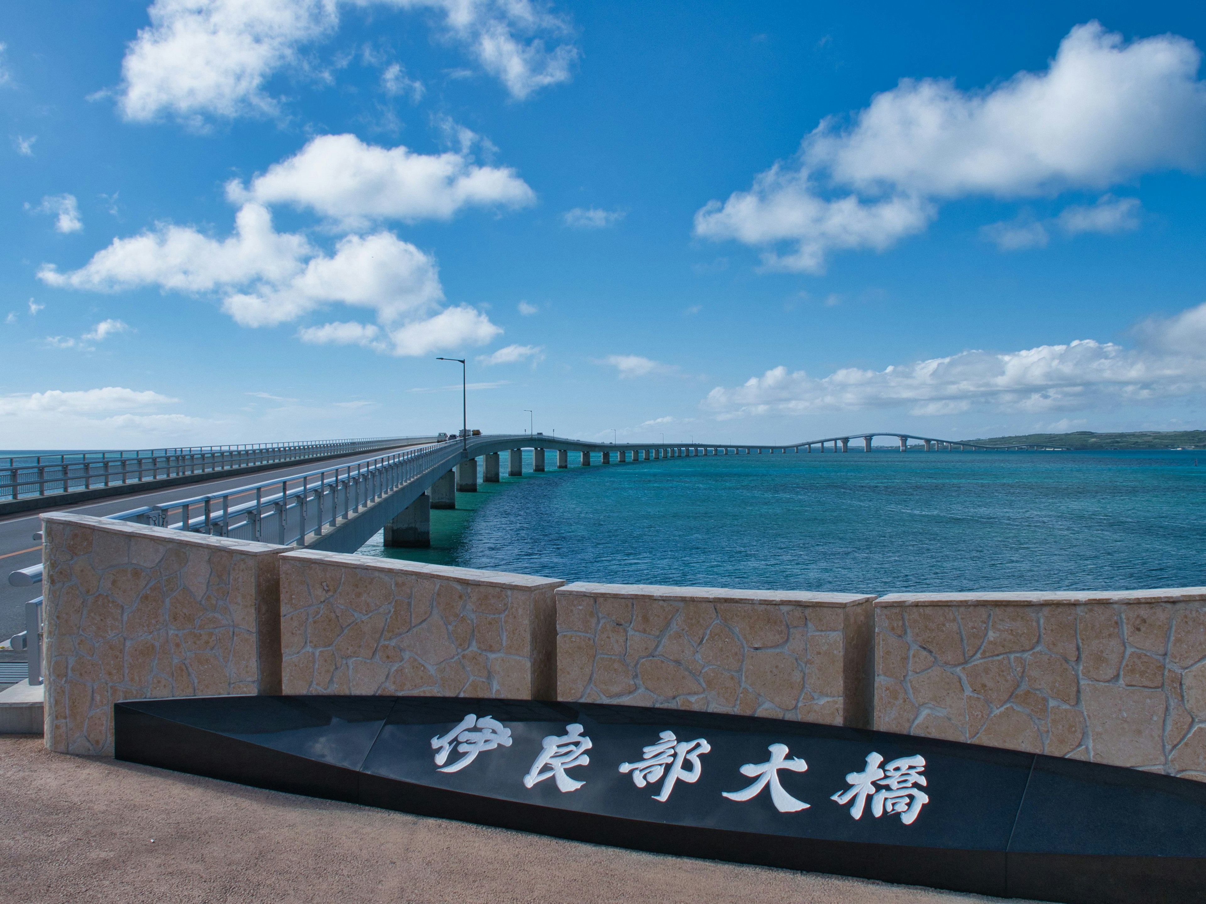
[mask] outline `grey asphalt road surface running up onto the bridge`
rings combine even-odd
[[[336,465],[343,466],[345,464],[355,464],[356,462],[363,462],[367,458],[374,458],[376,456],[396,452],[399,448],[406,448],[406,446],[379,450],[373,456],[359,452],[355,456],[327,458],[322,462],[294,463],[276,470],[256,471],[254,474],[227,477],[218,476],[215,480],[200,483],[186,483],[185,486],[165,487],[157,491],[147,491],[145,493],[129,493],[128,495],[118,495],[110,499],[81,503],[78,505],[62,505],[52,509],[42,509],[36,512],[23,512],[21,515],[10,515],[5,518],[0,518],[0,641],[5,641],[13,634],[25,630],[25,603],[31,599],[36,599],[42,593],[41,585],[37,583],[33,587],[13,587],[8,583],[8,573],[22,568],[29,568],[30,565],[36,565],[42,560],[42,545],[35,541],[33,536],[35,532],[42,529],[42,522],[39,516],[45,515],[46,512],[70,511],[77,515],[104,517],[105,515],[113,515],[119,511],[140,509],[144,505],[170,503],[177,499],[188,499],[209,493],[219,493],[224,489],[235,489],[238,487],[253,486],[267,481],[287,480],[295,474],[309,474],[310,471],[317,471],[324,468],[334,470]],[[293,486],[294,485],[291,482],[289,489],[292,489]],[[234,499],[238,497],[234,497]],[[247,493],[247,499],[239,499],[239,501],[242,503],[251,499],[254,499],[254,493]],[[25,653],[0,650],[0,662],[25,662]]]

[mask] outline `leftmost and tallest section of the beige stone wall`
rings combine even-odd
[[[113,752],[112,704],[280,693],[283,547],[43,515],[45,738]]]

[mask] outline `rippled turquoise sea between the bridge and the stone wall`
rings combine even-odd
[[[709,456],[481,489],[457,494],[472,510],[432,512],[432,550],[384,550],[379,535],[362,553],[859,593],[1206,585],[1201,451]]]

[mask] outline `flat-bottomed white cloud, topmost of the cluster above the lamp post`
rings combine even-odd
[[[374,219],[449,219],[467,206],[522,207],[535,193],[515,170],[478,166],[468,153],[416,154],[405,147],[365,145],[355,135],[322,135],[273,164],[234,201],[285,202],[362,225]]]

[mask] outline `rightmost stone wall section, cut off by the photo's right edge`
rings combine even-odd
[[[1206,780],[1206,587],[874,610],[876,728]]]

